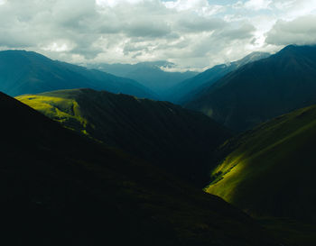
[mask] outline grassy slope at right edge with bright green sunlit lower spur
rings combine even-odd
[[[312,105],[227,141],[207,191],[249,214],[315,224],[315,126]]]

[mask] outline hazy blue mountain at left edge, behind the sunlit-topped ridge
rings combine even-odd
[[[8,95],[79,87],[155,98],[150,90],[132,79],[51,60],[31,51],[0,51],[0,91]]]

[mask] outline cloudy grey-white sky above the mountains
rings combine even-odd
[[[0,50],[208,68],[316,43],[316,0],[0,0]]]

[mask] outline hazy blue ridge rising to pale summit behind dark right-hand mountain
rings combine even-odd
[[[229,72],[234,71],[247,63],[265,59],[269,56],[270,54],[265,52],[252,52],[243,59],[209,68],[197,76],[188,78],[175,87],[172,87],[167,98],[170,99],[172,103],[183,105],[186,102],[191,101],[192,98],[199,95],[199,93],[206,87],[210,87],[218,81],[219,78],[224,77]]]

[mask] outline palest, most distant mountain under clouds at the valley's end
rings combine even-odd
[[[148,87],[165,100],[169,95],[169,89],[178,85],[181,81],[194,77],[197,72],[167,72],[162,68],[172,68],[174,64],[168,61],[141,62],[132,64],[94,64],[89,68],[98,68],[102,71],[120,77],[129,77]],[[169,97],[168,97],[169,98]]]

